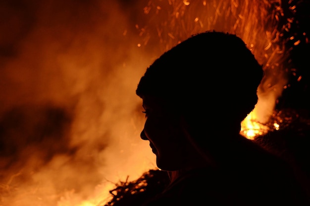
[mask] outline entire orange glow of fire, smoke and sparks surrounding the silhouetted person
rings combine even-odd
[[[139,139],[135,87],[156,57],[194,33],[236,33],[249,45],[266,76],[241,133],[270,129],[287,83],[281,0],[128,4],[48,0],[20,9],[1,1],[0,140],[8,150],[0,153],[0,206],[98,206],[115,182],[154,168]]]

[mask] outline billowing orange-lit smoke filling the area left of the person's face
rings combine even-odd
[[[127,5],[0,2],[0,205],[96,205],[155,167],[135,96],[149,61]]]

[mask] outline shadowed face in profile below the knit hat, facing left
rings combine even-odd
[[[142,99],[146,122],[141,138],[150,141],[157,167],[166,171],[182,169],[187,152],[180,118],[169,112],[158,98],[144,96]]]

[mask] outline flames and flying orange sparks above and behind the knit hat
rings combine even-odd
[[[265,125],[287,83],[287,51],[279,25],[284,16],[281,1],[168,0],[156,3],[161,9],[156,9],[153,1],[144,7],[147,15],[156,16],[155,21],[152,19],[147,25],[138,27],[149,29],[140,30],[144,45],[152,40],[160,42],[163,52],[191,34],[209,29],[235,33],[246,42],[263,65],[265,77],[258,88],[258,105],[242,122],[240,133],[250,139],[268,133],[270,128]]]

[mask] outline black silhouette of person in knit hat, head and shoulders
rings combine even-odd
[[[165,52],[136,93],[157,167],[171,183],[145,206],[309,205],[293,170],[241,136],[262,66],[242,39],[207,31]]]

